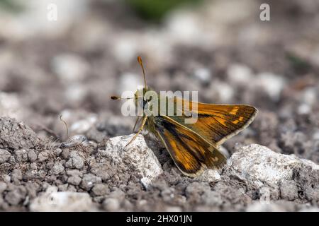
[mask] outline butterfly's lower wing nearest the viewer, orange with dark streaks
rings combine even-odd
[[[159,138],[184,174],[194,177],[205,167],[220,169],[225,165],[226,158],[217,148],[169,117],[155,117],[155,126]]]

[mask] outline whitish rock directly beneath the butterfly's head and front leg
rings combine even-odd
[[[110,138],[106,143],[106,150],[99,150],[99,153],[116,164],[118,168],[114,169],[115,171],[129,171],[140,179],[146,177],[151,181],[162,174],[162,167],[152,150],[147,147],[143,136],[138,136],[125,148],[133,136],[134,134]],[[146,182],[146,179],[143,181]],[[147,186],[150,185],[150,181],[147,180]]]

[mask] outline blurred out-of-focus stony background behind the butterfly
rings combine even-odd
[[[98,143],[129,134],[135,119],[110,96],[143,83],[141,55],[157,91],[259,109],[230,153],[259,143],[318,163],[318,12],[316,0],[0,0],[0,115],[43,137],[65,138],[60,114]]]

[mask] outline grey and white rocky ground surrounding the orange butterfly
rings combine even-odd
[[[160,24],[116,2],[0,14],[0,210],[318,211],[317,1],[269,1],[269,22],[261,1],[208,1]],[[139,54],[155,90],[259,109],[224,169],[185,177],[148,134],[123,150],[134,118],[109,97],[142,84]]]

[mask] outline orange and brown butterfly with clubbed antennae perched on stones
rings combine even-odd
[[[145,98],[145,94],[152,89],[147,86],[141,57],[138,57],[138,63],[142,68],[144,88],[137,90],[134,97],[112,96],[112,100],[134,99],[135,105],[140,104],[142,107],[150,104],[151,100]],[[126,146],[145,129],[162,141],[177,168],[189,177],[198,176],[204,169],[223,168],[227,159],[218,148],[250,125],[258,112],[250,105],[215,105],[191,102],[179,97],[165,98],[174,103],[174,113],[180,111],[180,114],[142,114],[135,121],[133,131],[138,123],[140,128]],[[189,111],[196,113],[196,122],[185,123],[189,114],[186,114],[184,108],[178,108],[177,102],[181,102],[182,106],[189,105]]]

